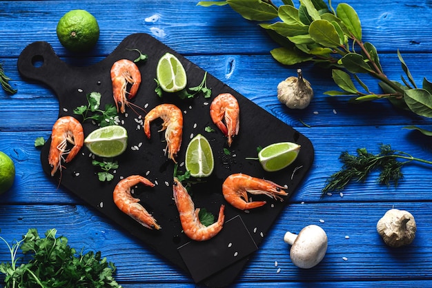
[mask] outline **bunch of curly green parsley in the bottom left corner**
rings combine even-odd
[[[50,229],[46,238],[40,238],[37,229],[28,229],[23,239],[8,245],[11,263],[1,263],[0,272],[6,274],[6,288],[15,287],[121,287],[112,274],[115,265],[101,258],[101,252],[92,251],[87,254],[77,254],[68,245],[64,236],[56,237],[57,230]],[[31,255],[28,263],[18,265],[17,251],[21,248],[23,254]]]

